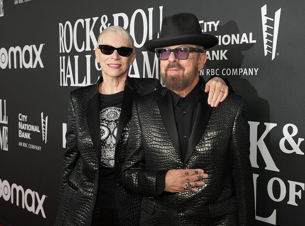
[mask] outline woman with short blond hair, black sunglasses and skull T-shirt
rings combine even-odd
[[[119,222],[124,218],[130,219],[128,225],[138,224],[142,197],[125,191],[119,173],[133,102],[160,83],[157,79],[127,76],[128,66],[135,60],[134,49],[133,38],[124,28],[103,30],[95,49],[102,77],[96,84],[70,94],[55,225],[122,225]],[[211,90],[225,90],[227,94],[228,87],[217,79],[207,84]],[[219,97],[219,93],[214,100],[226,97],[222,93]],[[128,205],[131,200],[135,206]]]

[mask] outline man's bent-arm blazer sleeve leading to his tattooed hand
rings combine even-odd
[[[158,171],[146,169],[145,151],[142,143],[142,127],[138,114],[137,100],[134,103],[126,159],[121,171],[124,187],[129,191],[158,198],[156,195],[156,175]]]

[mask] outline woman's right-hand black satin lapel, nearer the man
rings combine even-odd
[[[131,117],[132,106],[135,99],[139,98],[140,95],[136,93],[134,90],[125,85],[124,95],[123,95],[123,103],[121,108],[121,113],[119,117],[119,124],[117,127],[117,136],[115,146],[117,147],[117,143],[123,133],[123,130],[127,124],[127,121]]]

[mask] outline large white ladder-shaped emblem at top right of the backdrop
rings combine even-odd
[[[274,18],[267,17],[267,5],[261,8],[262,24],[263,24],[263,37],[264,37],[264,50],[265,56],[268,53],[272,54],[271,60],[274,59],[276,53],[276,44],[278,40],[278,25],[280,23],[281,8],[275,12]]]

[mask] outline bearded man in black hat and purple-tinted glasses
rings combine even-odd
[[[121,178],[143,196],[140,225],[254,223],[245,100],[229,93],[212,108],[199,77],[203,50],[217,43],[195,15],[179,13],[144,44],[167,87],[136,100],[132,112]]]

